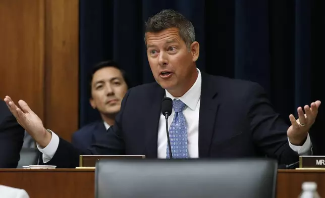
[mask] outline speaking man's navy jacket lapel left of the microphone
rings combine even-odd
[[[161,100],[163,100],[164,95],[165,89],[156,84],[156,87],[153,89],[152,94],[150,95],[151,106],[149,106],[145,121],[146,158],[157,158],[158,126],[161,114]]]

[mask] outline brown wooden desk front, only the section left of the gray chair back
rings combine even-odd
[[[30,198],[90,198],[95,195],[93,170],[0,169],[0,184],[25,189]]]

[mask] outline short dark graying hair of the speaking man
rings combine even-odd
[[[173,27],[179,29],[180,37],[186,43],[187,48],[190,48],[190,45],[195,41],[194,26],[182,14],[174,10],[162,10],[150,17],[145,23],[145,33],[160,32]],[[144,41],[146,42],[145,36]]]

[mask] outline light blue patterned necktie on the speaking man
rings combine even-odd
[[[173,109],[175,116],[169,128],[169,136],[171,141],[172,155],[175,158],[188,158],[187,152],[187,126],[183,110],[186,105],[181,100],[173,101]],[[169,147],[167,144],[166,158],[169,156]]]

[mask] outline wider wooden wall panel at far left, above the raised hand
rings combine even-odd
[[[44,2],[0,1],[0,97],[22,99],[44,118]]]

